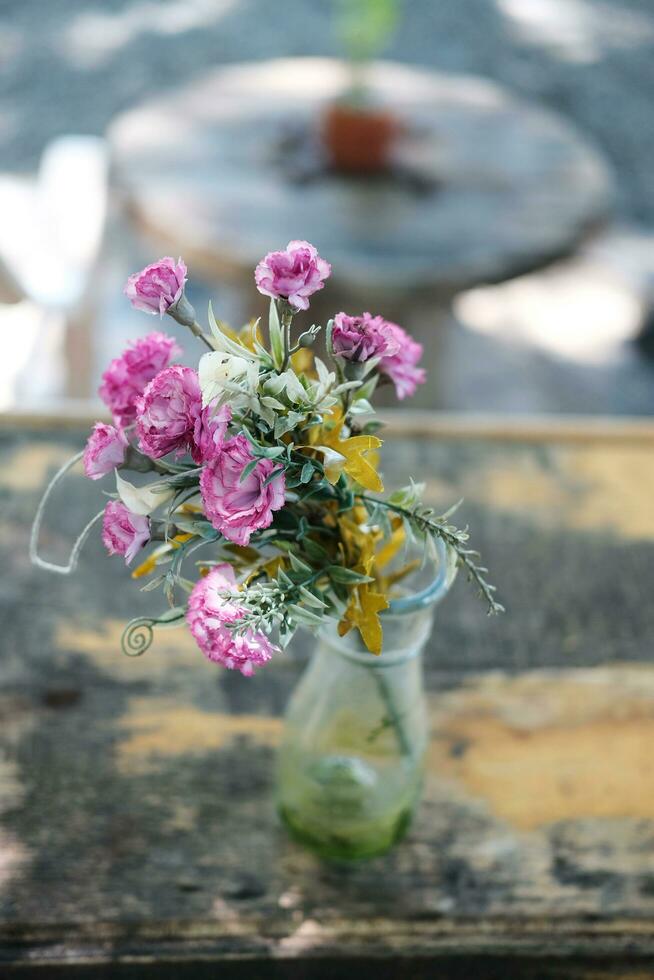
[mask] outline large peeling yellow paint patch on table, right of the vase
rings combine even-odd
[[[654,670],[482,677],[434,695],[432,715],[430,770],[519,830],[654,821]],[[634,860],[654,875],[654,851]]]

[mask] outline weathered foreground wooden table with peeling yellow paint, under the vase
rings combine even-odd
[[[465,495],[509,611],[487,620],[463,582],[439,610],[424,803],[349,870],[271,802],[305,649],[251,680],[183,631],[130,660],[122,623],[157,599],[98,536],[74,578],[29,566],[84,430],[0,427],[2,980],[654,975],[654,427],[393,422],[387,483]],[[71,477],[50,554],[97,502]]]

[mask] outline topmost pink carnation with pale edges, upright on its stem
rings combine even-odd
[[[273,299],[287,299],[298,310],[309,309],[309,296],[323,288],[332,267],[308,242],[289,242],[283,252],[268,252],[254,271],[257,289]]]

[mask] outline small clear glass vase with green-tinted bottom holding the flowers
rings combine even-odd
[[[324,629],[286,711],[277,807],[292,837],[325,858],[383,854],[419,801],[428,743],[422,649],[451,583],[445,563],[383,614],[376,657],[354,631]]]

